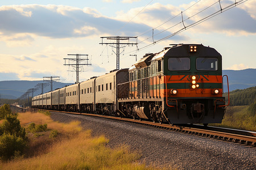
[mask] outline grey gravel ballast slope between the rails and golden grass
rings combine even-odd
[[[216,139],[156,129],[130,122],[67,113],[54,121],[81,121],[93,136],[104,135],[108,146],[127,145],[142,154],[141,162],[178,169],[256,169],[256,148]]]

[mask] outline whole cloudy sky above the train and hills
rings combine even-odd
[[[76,72],[63,58],[75,56],[67,54],[88,54],[81,63],[92,65],[81,66],[80,82],[109,73],[116,68],[116,49],[100,44],[114,42],[102,41],[105,36],[137,37],[122,40],[138,45],[121,45],[120,68],[131,67],[134,55],[139,59],[169,44],[193,43],[216,49],[225,70],[255,69],[256,0],[241,2],[225,11],[234,1],[1,0],[0,80],[60,76],[61,82],[74,83]]]

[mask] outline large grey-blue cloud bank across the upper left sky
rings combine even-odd
[[[19,38],[30,38],[30,41],[34,38],[32,35],[64,39],[113,34],[125,24],[121,20],[103,16],[93,8],[80,9],[56,5],[2,6],[0,22],[1,36],[9,37],[9,40],[6,38],[3,41],[15,40],[14,35],[20,34],[23,35]],[[136,24],[134,28],[137,31],[148,29],[143,23]],[[128,29],[124,31],[134,32]]]

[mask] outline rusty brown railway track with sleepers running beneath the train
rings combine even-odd
[[[45,110],[45,111],[49,111],[49,110]],[[94,117],[111,118],[114,120],[133,122],[136,124],[153,126],[155,128],[180,131],[181,133],[200,135],[202,137],[214,138],[221,141],[240,143],[241,145],[256,147],[256,132],[254,131],[217,128],[213,126],[204,127],[200,125],[168,125],[168,124],[159,124],[159,123],[154,123],[149,121],[133,120],[131,118],[121,118],[121,117],[113,117],[113,116],[91,114],[91,113],[77,113],[77,112],[64,112],[64,111],[50,111],[50,112],[82,114],[82,115],[94,116]]]

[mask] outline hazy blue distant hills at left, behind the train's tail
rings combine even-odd
[[[47,83],[43,81],[27,81],[27,80],[11,80],[11,81],[0,81],[0,98],[1,99],[17,99],[23,95],[29,88],[35,88],[38,83]],[[53,90],[69,86],[71,83],[53,82]],[[51,86],[44,87],[44,92],[51,91]],[[34,92],[35,95],[41,94],[42,89],[38,89]],[[30,95],[31,96],[31,95]]]

